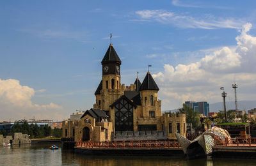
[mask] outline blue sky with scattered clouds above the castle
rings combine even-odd
[[[256,96],[255,1],[0,1],[0,121],[67,119],[95,103],[112,43],[121,82],[148,64],[162,110]],[[248,108],[252,109],[252,108]]]

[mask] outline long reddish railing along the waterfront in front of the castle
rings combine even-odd
[[[177,141],[168,141],[168,140],[131,140],[131,141],[108,141],[108,142],[82,142],[77,141],[76,147],[85,147],[85,148],[97,148],[97,149],[108,149],[108,148],[116,148],[116,149],[157,149],[157,148],[181,148],[179,142]]]

